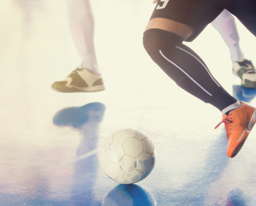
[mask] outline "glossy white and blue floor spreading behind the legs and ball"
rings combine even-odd
[[[221,113],[177,87],[148,57],[143,30],[152,1],[92,0],[96,54],[106,90],[58,93],[79,65],[64,0],[0,2],[0,205],[256,205],[256,129],[234,159]],[[255,38],[237,21],[256,63]],[[228,92],[240,87],[228,47],[209,25],[188,43]],[[156,165],[143,181],[118,185],[98,149],[113,131],[150,136]]]

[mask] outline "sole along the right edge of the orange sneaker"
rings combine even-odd
[[[242,136],[240,137],[240,143],[238,145],[234,145],[233,147],[230,148],[229,151],[231,151],[234,147],[236,147],[236,149],[229,155],[229,151],[227,152],[227,155],[230,157],[230,158],[233,158],[237,155],[237,153],[240,151],[240,149],[242,149],[243,145],[245,144],[245,141],[247,140],[253,126],[255,125],[256,123],[256,110],[254,110],[253,114],[252,114],[252,117],[248,123],[248,127],[245,129],[244,133],[242,134]],[[238,142],[238,141],[237,141]]]

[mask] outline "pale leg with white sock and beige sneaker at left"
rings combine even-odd
[[[82,64],[64,81],[54,82],[58,92],[98,92],[104,90],[94,47],[94,18],[89,0],[67,0],[70,31]]]

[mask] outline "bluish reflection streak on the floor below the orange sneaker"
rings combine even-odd
[[[226,154],[226,135],[223,132],[208,148],[206,161],[200,170],[196,171],[195,174],[188,174],[193,176],[193,180],[179,190],[170,191],[173,196],[176,196],[176,198],[172,198],[172,202],[176,203],[175,205],[205,205],[205,198],[210,185],[221,176],[229,162]]]

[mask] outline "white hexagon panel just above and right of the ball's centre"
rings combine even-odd
[[[125,154],[134,158],[137,158],[144,151],[141,140],[138,140],[136,138],[129,138],[123,144],[123,147],[125,150]]]

